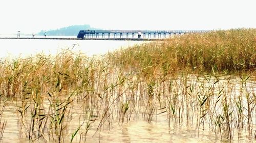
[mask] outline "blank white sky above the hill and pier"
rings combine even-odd
[[[90,24],[105,30],[256,28],[255,0],[2,0],[0,34]]]

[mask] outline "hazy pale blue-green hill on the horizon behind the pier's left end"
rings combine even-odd
[[[62,27],[57,30],[40,31],[37,35],[47,36],[77,36],[80,30],[102,30],[100,28],[93,28],[89,24],[86,25],[71,25],[68,27]]]

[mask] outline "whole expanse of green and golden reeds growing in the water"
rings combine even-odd
[[[216,31],[100,57],[67,49],[56,56],[5,59],[0,95],[15,103],[20,136],[32,141],[85,142],[90,130],[162,115],[169,126],[192,125],[195,137],[208,129],[229,140],[234,131],[252,139],[255,37],[255,29]]]

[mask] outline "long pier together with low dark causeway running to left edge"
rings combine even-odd
[[[115,41],[161,41],[184,34],[207,33],[210,31],[122,31],[122,30],[81,30],[77,38],[67,37],[0,37],[0,39],[45,39],[45,40],[115,40]]]

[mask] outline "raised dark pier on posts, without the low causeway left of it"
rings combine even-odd
[[[105,31],[105,30],[81,30],[77,38],[79,39],[87,39],[87,38],[105,38],[105,35],[108,38],[117,38],[117,35],[120,38],[129,38],[132,36],[132,39],[138,37],[138,39],[164,39],[169,38],[175,35],[189,34],[189,33],[206,33],[210,31],[123,31],[123,30],[113,30],[113,31]],[[101,35],[101,37],[100,37]],[[143,36],[143,37],[142,37]]]

